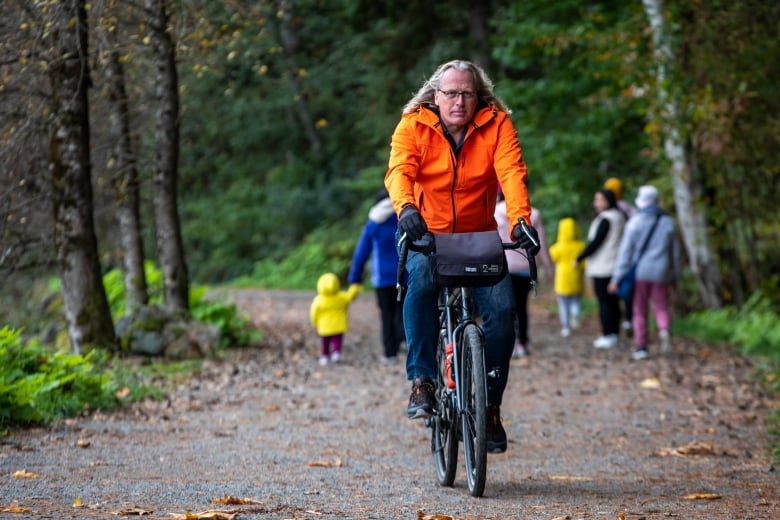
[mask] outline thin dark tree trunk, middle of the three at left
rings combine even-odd
[[[108,82],[109,122],[114,149],[109,160],[117,199],[117,221],[122,242],[125,304],[127,314],[149,302],[141,238],[140,187],[136,156],[130,137],[130,114],[125,88],[125,71],[117,51],[114,32],[106,32],[108,51],[105,63]]]

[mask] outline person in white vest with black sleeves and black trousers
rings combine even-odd
[[[575,263],[587,258],[585,274],[593,280],[593,293],[599,303],[601,336],[593,342],[595,348],[616,347],[620,334],[620,300],[607,290],[615,270],[620,240],[626,217],[617,208],[615,194],[602,188],[593,195],[596,218],[588,229],[588,244]]]

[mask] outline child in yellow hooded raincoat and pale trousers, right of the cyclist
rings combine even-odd
[[[585,242],[579,239],[577,222],[573,218],[561,219],[558,240],[550,246],[550,259],[555,264],[554,289],[564,338],[579,326],[580,301],[585,292],[585,262],[577,263],[576,260],[584,249]]]

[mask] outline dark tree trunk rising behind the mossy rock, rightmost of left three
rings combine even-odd
[[[175,309],[189,311],[189,280],[176,202],[179,167],[176,49],[168,29],[165,0],[147,0],[146,6],[157,66],[157,152],[153,175],[157,253],[165,284],[165,303]]]

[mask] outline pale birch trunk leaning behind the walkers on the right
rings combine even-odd
[[[667,67],[672,62],[672,51],[666,34],[663,6],[661,0],[642,0],[642,4],[653,31],[656,83],[662,108],[661,123],[665,132],[664,153],[671,163],[674,201],[683,242],[704,305],[719,308],[722,305],[721,276],[707,235],[707,217],[698,204],[702,187],[696,181],[686,157],[679,128],[680,110],[667,84]]]

